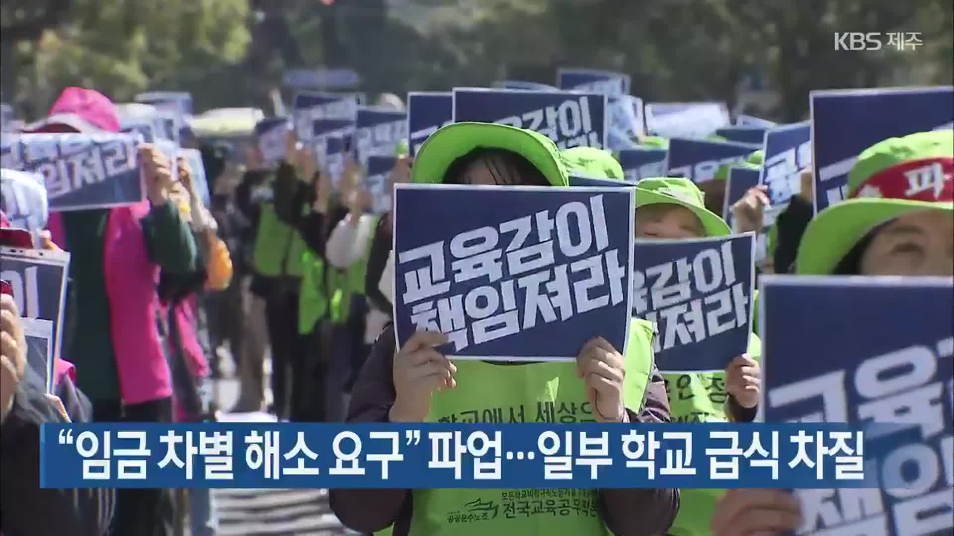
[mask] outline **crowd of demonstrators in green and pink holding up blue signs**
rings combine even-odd
[[[393,100],[393,99],[392,99]],[[400,103],[393,103],[399,107]],[[118,132],[114,104],[68,88],[28,133]],[[266,162],[253,134],[239,149],[202,144],[212,192],[202,204],[189,165],[155,145],[139,147],[147,198],[128,207],[53,213],[43,247],[71,254],[62,360],[53,394],[26,364],[15,302],[2,305],[3,472],[0,532],[6,536],[173,533],[171,490],[41,489],[41,423],[200,422],[216,419],[210,379],[227,341],[240,377],[236,412],[259,411],[263,364],[271,356],[268,410],[292,422],[425,423],[493,398],[501,407],[536,402],[588,406],[600,423],[751,422],[760,397],[760,341],[726,356],[724,371],[661,374],[652,322],[633,318],[626,348],[598,336],[573,349],[575,363],[451,361],[440,333],[419,331],[398,347],[392,279],[393,217],[369,214],[363,170],[349,159],[340,177],[289,132],[284,155]],[[665,144],[662,139],[644,139]],[[398,149],[403,153],[403,149]],[[749,157],[760,163],[761,155]],[[912,161],[944,163],[933,200],[905,188],[864,197],[863,185],[902,180]],[[413,160],[400,155],[401,182],[565,187],[570,173],[622,179],[601,150],[558,151],[542,134],[506,125],[458,123],[432,134]],[[849,174],[849,199],[814,216],[812,175],[778,216],[763,273],[842,276],[954,274],[954,134],[891,138],[863,152]],[[173,169],[177,175],[173,175]],[[720,217],[725,170],[700,189],[680,177],[634,185],[637,239],[684,240],[761,232],[769,207],[754,188]],[[0,213],[2,217],[2,213]],[[440,225],[435,221],[435,225]],[[0,226],[7,227],[6,220]],[[550,388],[556,380],[562,389]],[[721,385],[712,391],[710,385]],[[677,388],[677,389],[676,389]],[[674,397],[678,390],[692,397]],[[714,396],[714,392],[724,396]],[[505,409],[506,411],[506,409]],[[364,533],[463,534],[447,513],[499,490],[334,489],[342,523]],[[802,512],[783,490],[594,489],[568,517],[508,519],[504,534],[736,536],[795,530]],[[208,489],[188,492],[192,534],[213,535]],[[503,525],[506,524],[506,525]],[[481,533],[489,531],[481,527]]]

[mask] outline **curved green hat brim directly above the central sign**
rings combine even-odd
[[[441,183],[454,160],[481,148],[512,151],[527,158],[550,185],[570,185],[570,174],[550,138],[509,125],[476,122],[454,123],[430,134],[414,156],[411,182]]]

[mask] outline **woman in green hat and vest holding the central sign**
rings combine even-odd
[[[507,125],[456,123],[427,138],[411,169],[413,183],[562,187],[566,158],[546,136]],[[522,192],[525,193],[525,192]],[[434,222],[440,225],[440,222]],[[511,422],[553,421],[548,408],[571,408],[572,421],[668,422],[669,403],[653,365],[653,327],[631,320],[620,352],[595,337],[574,362],[452,362],[442,354],[445,334],[414,333],[396,347],[393,327],[375,342],[355,383],[348,423],[441,422],[467,408],[493,406]],[[559,385],[559,389],[555,385]],[[498,409],[499,408],[499,409]],[[588,409],[589,408],[589,409]],[[526,410],[526,414],[525,414]],[[463,412],[463,413],[461,413]],[[541,416],[542,413],[542,416]],[[569,414],[568,414],[569,415]],[[570,417],[568,417],[570,418]],[[331,507],[342,523],[396,536],[454,534],[660,534],[674,519],[675,489],[584,491],[570,515],[504,515],[451,525],[448,516],[471,504],[494,504],[502,490],[332,489]],[[472,516],[474,518],[480,516]]]

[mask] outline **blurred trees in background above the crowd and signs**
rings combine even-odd
[[[950,84],[954,53],[950,0],[4,0],[0,19],[3,100],[26,118],[66,85],[267,108],[291,69],[352,68],[358,90],[403,94],[553,83],[566,66],[628,72],[646,100],[791,121],[812,89]],[[836,51],[836,31],[923,46]]]

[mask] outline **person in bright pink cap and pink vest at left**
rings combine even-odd
[[[113,103],[67,88],[33,133],[118,132]],[[159,269],[195,269],[196,243],[176,207],[169,155],[139,148],[148,199],[129,207],[64,213],[57,243],[71,252],[73,280],[65,356],[78,363],[78,386],[93,401],[96,422],[172,421],[172,378],[159,326]],[[56,233],[53,234],[56,238]],[[114,534],[169,534],[167,490],[117,492]]]

